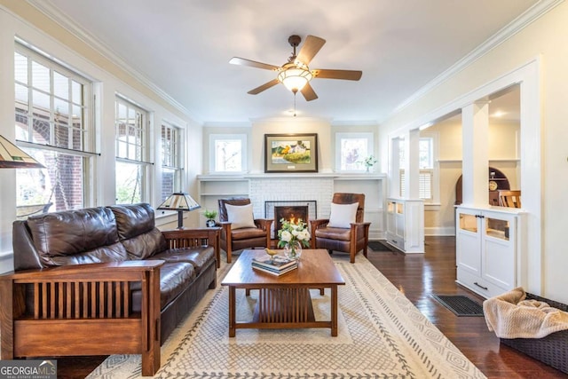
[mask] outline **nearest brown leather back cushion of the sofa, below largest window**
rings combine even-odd
[[[123,249],[119,247],[99,249],[119,241],[114,214],[110,209],[98,207],[45,213],[29,217],[26,223],[40,260],[46,265],[58,265],[53,261],[54,257],[73,256],[85,251],[95,251],[101,262],[125,258]],[[106,254],[109,257],[104,257]]]

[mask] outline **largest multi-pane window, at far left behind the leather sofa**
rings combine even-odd
[[[16,143],[45,166],[16,170],[17,217],[83,208],[95,155],[92,83],[19,43],[14,79]]]

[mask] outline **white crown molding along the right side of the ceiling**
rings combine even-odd
[[[479,46],[477,46],[476,49],[470,51],[465,57],[461,58],[456,63],[454,63],[452,67],[449,67],[448,69],[446,69],[446,71],[436,76],[429,83],[424,85],[421,89],[415,91],[414,94],[412,94],[402,103],[400,103],[397,107],[395,107],[393,111],[389,114],[389,116],[385,118],[385,120],[388,120],[394,114],[397,114],[404,108],[408,107],[409,105],[414,103],[414,101],[421,99],[422,96],[424,96],[426,93],[438,87],[440,83],[443,83],[451,76],[456,75],[465,67],[468,67],[477,59],[483,57],[489,51],[492,51],[501,43],[507,41],[510,37],[515,36],[518,32],[520,32],[521,30],[529,26],[531,23],[533,23],[534,20],[538,20],[542,15],[555,8],[556,5],[561,4],[563,2],[564,0],[540,0],[539,3],[534,4],[531,8],[527,9],[525,12],[519,15],[517,19],[509,22],[508,25],[501,28],[501,30],[499,30],[493,36],[485,40],[484,43],[481,43]]]

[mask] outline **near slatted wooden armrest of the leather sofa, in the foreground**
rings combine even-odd
[[[66,265],[0,275],[0,359],[140,353],[143,375],[154,375],[160,367],[163,263]],[[141,283],[141,312],[131,311],[130,282]]]

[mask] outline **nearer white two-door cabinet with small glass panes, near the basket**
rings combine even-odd
[[[523,215],[501,207],[456,208],[458,283],[484,297],[517,287]]]

